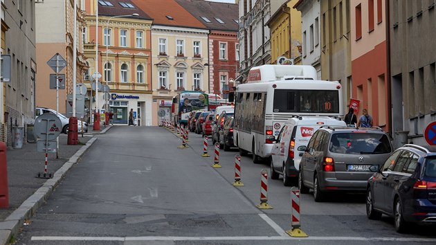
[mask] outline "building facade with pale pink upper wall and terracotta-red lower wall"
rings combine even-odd
[[[385,1],[350,1],[349,11],[352,98],[360,101],[357,116],[367,109],[374,126],[390,131]]]

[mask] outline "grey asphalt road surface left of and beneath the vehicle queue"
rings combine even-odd
[[[243,187],[232,185],[238,152],[221,150],[221,168],[201,157],[203,139],[187,149],[163,127],[112,127],[67,174],[17,244],[436,244],[435,227],[394,231],[393,220],[370,221],[365,196],[336,194],[315,203],[302,194],[301,229],[289,237],[290,188],[269,179],[260,210],[260,172],[242,157]]]

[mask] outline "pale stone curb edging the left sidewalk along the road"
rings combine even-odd
[[[107,127],[99,134],[105,133],[109,128],[110,127]],[[60,181],[62,181],[64,174],[78,162],[79,158],[87,152],[87,149],[91,147],[96,140],[97,138],[95,137],[88,140],[86,145],[80,147],[80,149],[69,158],[69,161],[66,161],[66,163],[53,174],[52,179],[48,179],[33,195],[21,203],[21,206],[12,212],[5,221],[0,222],[0,245],[9,244],[11,237],[18,235],[24,221],[35,215],[37,209],[42,206],[57,185],[59,185]]]

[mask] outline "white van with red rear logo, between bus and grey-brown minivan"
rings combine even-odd
[[[283,175],[283,185],[297,183],[302,156],[301,146],[307,146],[309,140],[322,126],[347,127],[343,120],[328,116],[293,116],[282,127],[271,149],[271,179]]]

